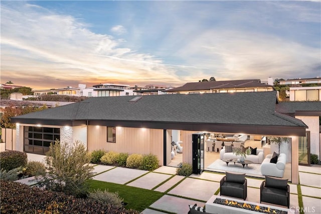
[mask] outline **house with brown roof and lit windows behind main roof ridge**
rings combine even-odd
[[[169,94],[202,94],[202,93],[234,93],[274,91],[272,85],[263,84],[259,79],[226,80],[186,83],[177,88],[165,90]]]

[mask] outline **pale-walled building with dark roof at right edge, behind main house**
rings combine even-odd
[[[276,111],[287,114],[304,122],[306,129],[305,138],[299,139],[299,154],[302,156],[302,164],[310,164],[310,154],[321,156],[321,130],[319,118],[321,117],[321,102],[280,102],[276,105]],[[303,157],[306,155],[306,158]],[[302,161],[301,161],[302,160]]]

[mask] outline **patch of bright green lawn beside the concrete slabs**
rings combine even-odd
[[[90,180],[90,190],[94,189],[108,189],[109,192],[118,192],[119,197],[123,198],[126,203],[126,209],[134,209],[142,211],[153,202],[161,198],[165,193],[143,189],[133,186],[126,186],[123,184],[104,182],[99,180]]]

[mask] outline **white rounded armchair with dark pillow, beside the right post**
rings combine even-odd
[[[283,177],[286,164],[286,154],[279,154],[276,163],[271,163],[271,157],[272,154],[268,154],[263,160],[260,169],[261,174],[274,177]]]

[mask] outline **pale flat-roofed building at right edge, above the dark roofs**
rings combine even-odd
[[[290,87],[290,101],[321,101],[321,86]]]

